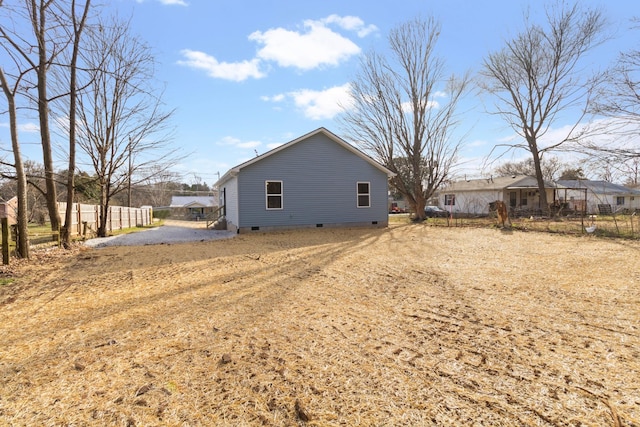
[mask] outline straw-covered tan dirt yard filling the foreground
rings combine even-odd
[[[6,275],[0,425],[640,425],[638,242],[310,229]]]

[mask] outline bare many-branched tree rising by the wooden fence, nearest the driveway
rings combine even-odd
[[[127,22],[100,24],[88,47],[89,89],[78,97],[78,145],[100,187],[97,233],[106,236],[112,197],[180,158],[168,149],[172,111],[153,87],[154,58]]]

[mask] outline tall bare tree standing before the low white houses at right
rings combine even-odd
[[[548,209],[541,160],[573,137],[584,118],[598,79],[581,59],[603,40],[605,20],[599,10],[559,1],[546,10],[546,26],[525,18],[524,30],[484,60],[481,83],[496,98],[495,113],[524,139],[506,146],[531,153],[540,190],[540,208]],[[557,141],[541,138],[560,113],[579,110],[572,129]]]

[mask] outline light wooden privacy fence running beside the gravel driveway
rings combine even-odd
[[[58,209],[62,215],[66,209],[65,202],[58,202]],[[71,235],[88,237],[98,229],[100,206],[74,203],[71,215]],[[125,228],[143,227],[153,222],[151,206],[128,208],[125,206],[110,206],[107,211],[107,232]]]

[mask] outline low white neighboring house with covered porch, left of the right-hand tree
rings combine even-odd
[[[555,184],[545,181],[547,200],[554,200]],[[438,202],[450,212],[483,215],[489,205],[504,201],[512,210],[532,212],[540,209],[540,193],[534,177],[516,175],[453,182],[438,192]]]

